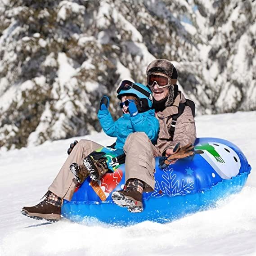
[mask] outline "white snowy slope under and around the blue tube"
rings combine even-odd
[[[39,225],[20,214],[46,192],[67,157],[73,139],[0,152],[0,256],[245,256],[256,255],[256,112],[196,118],[198,137],[232,141],[252,166],[242,192],[219,202],[217,208],[162,225],[144,222],[126,228],[69,220]],[[103,133],[85,136],[100,144]]]

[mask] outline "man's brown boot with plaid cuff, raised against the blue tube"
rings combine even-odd
[[[143,187],[144,183],[141,180],[129,179],[124,190],[112,193],[112,200],[120,207],[127,207],[130,212],[142,212]]]

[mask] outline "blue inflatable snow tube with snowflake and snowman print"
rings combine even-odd
[[[198,138],[195,149],[203,153],[177,161],[161,169],[156,158],[155,188],[143,193],[144,211],[130,213],[118,207],[112,191],[125,184],[125,165],[116,166],[99,182],[88,178],[76,188],[72,200],[64,201],[62,215],[73,221],[96,218],[114,225],[132,225],[145,220],[166,223],[196,211],[213,207],[216,202],[238,193],[246,183],[251,166],[241,150],[231,142],[216,138]],[[105,151],[108,161],[112,149]]]

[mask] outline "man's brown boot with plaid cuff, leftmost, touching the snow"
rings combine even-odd
[[[48,191],[45,200],[32,207],[23,207],[21,213],[36,220],[60,220],[62,199]]]

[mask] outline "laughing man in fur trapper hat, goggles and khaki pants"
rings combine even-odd
[[[157,59],[147,67],[147,84],[153,91],[153,107],[157,112],[160,131],[156,145],[144,132],[135,132],[126,139],[123,148],[126,153],[126,186],[123,191],[113,192],[112,199],[130,212],[143,211],[143,191],[154,190],[155,157],[170,156],[177,143],[184,146],[193,144],[196,139],[194,118],[188,106],[177,119],[174,135],[169,133],[172,116],[178,113],[179,104],[185,102],[184,95],[178,91],[177,78],[178,73],[168,60]],[[71,200],[77,184],[70,165],[76,162],[82,166],[84,158],[100,147],[93,141],[81,139],[69,151],[70,155],[49,186],[45,199],[36,206],[23,207],[22,214],[35,219],[59,220],[62,201]],[[81,168],[79,175],[84,180],[88,172]]]

